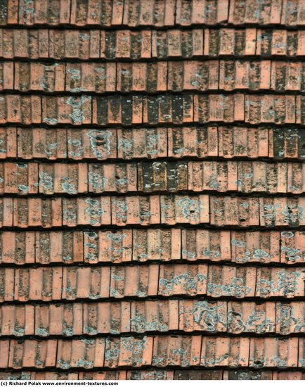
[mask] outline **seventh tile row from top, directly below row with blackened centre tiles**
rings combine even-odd
[[[209,195],[0,198],[1,227],[206,224],[223,227],[300,227],[305,196]]]

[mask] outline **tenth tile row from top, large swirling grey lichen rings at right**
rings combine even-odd
[[[0,306],[0,336],[95,336],[134,332],[304,334],[305,305],[207,300]]]

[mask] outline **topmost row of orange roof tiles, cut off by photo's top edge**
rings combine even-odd
[[[1,25],[305,24],[301,0],[5,0]]]

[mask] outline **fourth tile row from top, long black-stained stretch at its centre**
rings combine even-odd
[[[0,124],[134,125],[207,122],[304,124],[305,96],[0,96]]]

